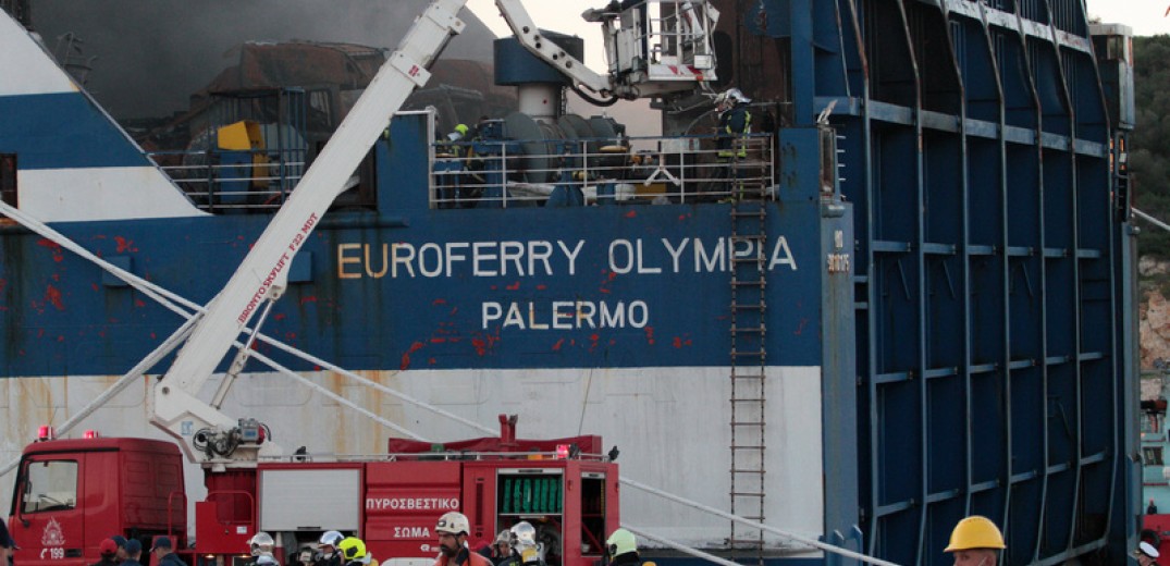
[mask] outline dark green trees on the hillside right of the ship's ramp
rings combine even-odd
[[[1170,35],[1134,37],[1134,105],[1129,167],[1134,206],[1170,220]],[[1138,254],[1170,258],[1170,232],[1140,222]]]

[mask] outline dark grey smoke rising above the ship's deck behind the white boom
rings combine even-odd
[[[168,116],[236,63],[245,41],[307,40],[393,49],[428,0],[40,0],[33,25],[82,40],[87,89],[118,119]],[[445,58],[490,62],[494,36],[470,12]]]

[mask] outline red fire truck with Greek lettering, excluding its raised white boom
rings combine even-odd
[[[385,456],[364,461],[292,455],[207,469],[207,497],[193,502],[194,546],[174,443],[46,439],[28,446],[20,464],[9,520],[21,548],[16,561],[88,565],[112,534],[138,538],[145,548],[166,534],[188,564],[227,565],[250,560],[248,539],[266,531],[287,562],[325,530],[363,538],[384,564],[429,561],[438,553],[435,520],[461,511],[473,545],[526,520],[550,566],[592,565],[618,527],[618,469],[600,454],[601,439],[523,440],[515,436],[515,416],[500,422],[498,437],[392,440]]]

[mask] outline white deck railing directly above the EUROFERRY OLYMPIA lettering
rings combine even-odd
[[[535,149],[535,151],[534,151]],[[714,202],[773,194],[769,134],[434,145],[434,208]]]

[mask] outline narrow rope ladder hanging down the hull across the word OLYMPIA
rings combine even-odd
[[[731,513],[764,523],[765,347],[768,303],[768,182],[765,138],[737,139],[743,158],[729,164],[731,182]],[[764,532],[731,523],[736,553],[764,564]]]

